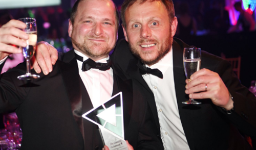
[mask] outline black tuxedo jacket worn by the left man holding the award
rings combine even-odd
[[[124,135],[135,149],[163,149],[158,127],[137,81],[114,71],[113,95],[122,91]],[[81,115],[93,108],[81,82],[74,51],[56,62],[48,76],[18,80],[24,63],[0,78],[0,110],[15,110],[23,130],[21,149],[101,149],[98,127]],[[157,130],[156,130],[157,129]]]

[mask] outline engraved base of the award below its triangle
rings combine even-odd
[[[99,129],[103,144],[108,146],[110,150],[128,150],[125,140],[113,135],[109,130]],[[103,138],[104,137],[104,138]]]

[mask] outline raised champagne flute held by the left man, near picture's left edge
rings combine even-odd
[[[18,19],[24,23],[26,23],[27,27],[23,31],[25,31],[29,35],[29,39],[26,41],[27,46],[22,47],[23,49],[23,56],[26,60],[26,67],[27,72],[26,74],[23,74],[21,76],[18,76],[19,80],[30,80],[32,78],[37,79],[40,78],[40,76],[36,74],[31,74],[30,70],[30,59],[35,53],[36,48],[36,41],[37,41],[37,29],[36,29],[36,20],[35,18],[20,18]]]

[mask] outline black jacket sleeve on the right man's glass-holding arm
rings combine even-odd
[[[228,117],[240,132],[255,137],[256,97],[240,83],[228,61],[220,61],[214,71],[219,73],[229,93],[233,97],[234,112],[227,114],[223,111],[224,115]]]

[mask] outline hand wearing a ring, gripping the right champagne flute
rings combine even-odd
[[[210,98],[216,106],[223,107],[226,110],[233,108],[229,91],[218,73],[204,68],[192,74],[190,79],[190,82],[186,80],[185,90],[190,98]]]

